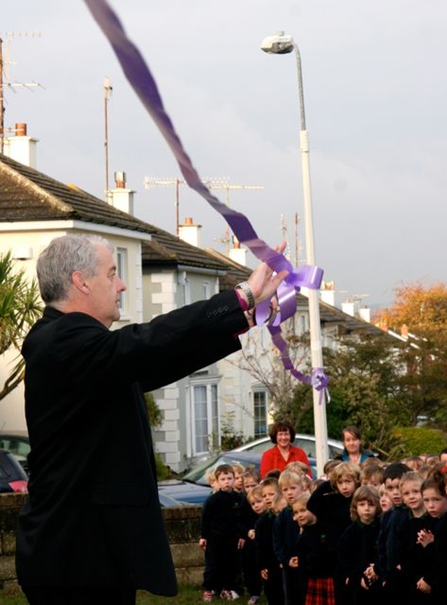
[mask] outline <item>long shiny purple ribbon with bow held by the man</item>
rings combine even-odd
[[[277,273],[282,270],[288,271],[288,276],[284,279],[284,282],[282,282],[278,289],[278,300],[281,311],[274,319],[274,325],[268,326],[269,330],[274,328],[274,330],[279,330],[280,333],[279,324],[281,321],[288,319],[288,317],[291,317],[295,313],[296,293],[299,291],[300,287],[305,286],[311,289],[318,289],[323,277],[323,270],[313,265],[303,265],[299,270],[295,270],[284,254],[280,254],[276,250],[270,248],[263,240],[258,238],[249,219],[247,219],[244,214],[228,207],[211,194],[210,190],[200,180],[191,159],[184,150],[173,123],[163,106],[163,101],[161,100],[152,73],[149,71],[138,48],[126,36],[126,32],[124,31],[119,18],[105,0],[85,0],[85,3],[91,12],[91,15],[93,15],[99,27],[102,29],[103,34],[105,34],[112,45],[131,87],[159,127],[163,137],[166,139],[170,150],[173,152],[175,159],[177,159],[184,180],[189,187],[205,198],[205,200],[212,205],[214,210],[217,210],[217,212],[221,214],[236,235],[237,240],[246,245],[256,258],[267,263],[268,266]],[[264,317],[266,313],[268,314],[268,305],[269,303],[266,303],[266,305],[265,303],[258,305],[258,308],[256,309],[258,323],[263,323],[263,321],[259,321],[259,318]],[[273,334],[272,338],[274,340]],[[306,377],[304,377],[304,374],[301,374],[301,372],[298,372],[298,370],[295,370],[293,367],[290,357],[288,357],[287,344],[284,342],[284,339],[282,340],[280,351],[283,361],[286,361],[286,363],[291,366],[288,367],[288,369],[291,370],[293,375],[299,380],[311,384],[310,378],[309,381],[305,380],[304,378]],[[287,360],[290,361],[290,364]]]

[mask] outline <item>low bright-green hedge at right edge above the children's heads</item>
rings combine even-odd
[[[400,427],[393,431],[393,459],[423,453],[439,453],[447,447],[447,434],[436,428]]]

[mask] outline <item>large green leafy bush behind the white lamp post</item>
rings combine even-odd
[[[402,368],[394,343],[383,335],[341,338],[337,344],[337,351],[323,352],[325,371],[330,376],[328,435],[341,439],[346,425],[357,425],[366,447],[389,451],[393,428],[409,421],[399,388]],[[290,414],[297,430],[314,432],[309,386],[300,384],[295,388]]]

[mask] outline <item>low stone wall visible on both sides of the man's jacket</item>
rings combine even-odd
[[[2,591],[20,590],[15,576],[15,527],[26,498],[23,494],[0,494],[0,602]],[[198,547],[201,510],[198,506],[163,509],[180,584],[198,585],[203,580],[203,551]]]

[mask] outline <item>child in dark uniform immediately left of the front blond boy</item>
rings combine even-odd
[[[261,483],[261,493],[267,510],[255,525],[256,562],[268,605],[284,605],[281,567],[273,551],[274,500],[275,496],[281,496],[277,479],[264,479]]]

